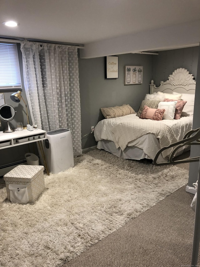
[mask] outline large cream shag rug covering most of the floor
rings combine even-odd
[[[62,266],[187,181],[188,171],[176,166],[99,150],[45,175],[46,189],[34,204],[8,202],[1,181],[0,266]]]

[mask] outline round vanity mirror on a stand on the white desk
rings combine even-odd
[[[9,121],[11,121],[14,116],[15,116],[15,110],[11,105],[2,105],[0,106],[0,119],[2,121],[7,121],[7,126],[6,128],[3,130],[3,133],[10,133],[10,132],[14,132],[15,130],[13,130],[9,124]]]

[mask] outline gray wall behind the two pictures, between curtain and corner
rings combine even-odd
[[[149,93],[153,57],[155,55],[118,55],[119,78],[114,80],[104,78],[104,57],[79,58],[82,149],[97,144],[90,131],[91,126],[96,126],[98,121],[104,118],[100,111],[101,107],[129,104],[138,111],[144,96]],[[142,84],[124,85],[124,66],[126,65],[143,66]],[[84,137],[86,134],[88,135]]]

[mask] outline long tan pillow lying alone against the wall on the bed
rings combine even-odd
[[[101,112],[106,119],[121,117],[136,113],[130,105],[101,108]]]

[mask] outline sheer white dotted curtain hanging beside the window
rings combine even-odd
[[[74,155],[81,150],[78,54],[74,46],[22,41],[24,86],[33,124],[45,131],[72,133]]]

